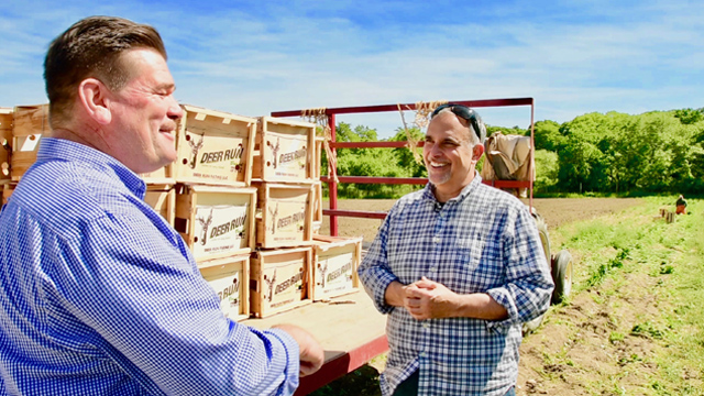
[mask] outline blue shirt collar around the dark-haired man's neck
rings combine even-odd
[[[114,157],[85,144],[65,139],[42,138],[36,161],[51,160],[84,162],[94,167],[100,167],[103,172],[111,170],[138,197],[144,198],[146,193],[146,184],[134,172]]]

